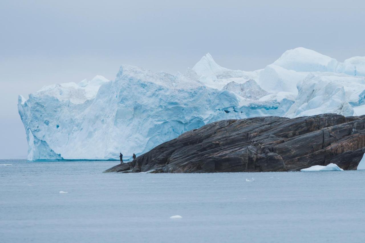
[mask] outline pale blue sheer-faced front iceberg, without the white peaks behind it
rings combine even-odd
[[[99,82],[47,86],[28,100],[19,97],[28,160],[107,160],[120,151],[128,158],[212,121],[283,115],[287,108],[281,106],[288,105],[285,98],[258,100],[268,93],[255,81],[247,84],[251,95],[243,95],[129,65],[120,67],[115,80],[95,79]]]

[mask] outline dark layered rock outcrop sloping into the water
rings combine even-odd
[[[185,132],[105,172],[296,171],[335,163],[356,169],[365,152],[365,116],[223,120]]]

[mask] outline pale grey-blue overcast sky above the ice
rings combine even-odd
[[[18,95],[43,85],[114,79],[121,64],[184,72],[206,53],[264,68],[306,47],[365,56],[364,1],[0,1],[0,159],[26,158]]]

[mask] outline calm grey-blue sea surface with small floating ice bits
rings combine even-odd
[[[365,171],[103,173],[117,163],[0,160],[0,242],[365,241]]]

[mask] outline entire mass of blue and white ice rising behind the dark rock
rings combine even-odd
[[[111,81],[45,86],[19,96],[18,110],[30,161],[118,159],[221,119],[365,114],[363,76],[364,57],[341,63],[301,47],[253,72],[207,54],[184,74],[122,65]]]

